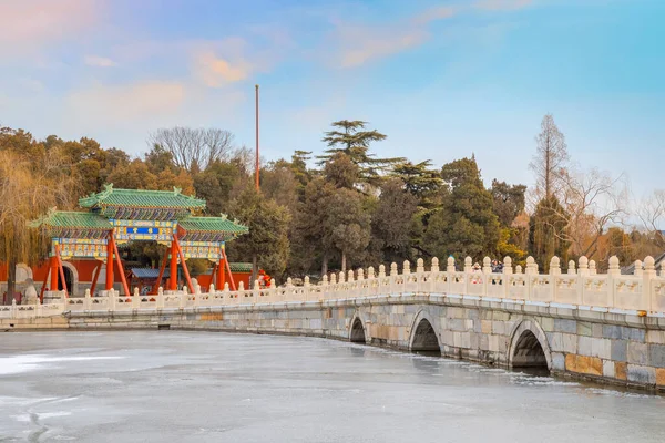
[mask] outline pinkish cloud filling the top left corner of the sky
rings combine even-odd
[[[21,53],[92,29],[101,1],[0,1],[0,53]]]

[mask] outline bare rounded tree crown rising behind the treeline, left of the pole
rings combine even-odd
[[[175,165],[192,171],[197,166],[205,169],[216,159],[228,159],[234,151],[231,132],[209,128],[174,126],[161,128],[149,137],[149,144],[160,145],[173,156]]]

